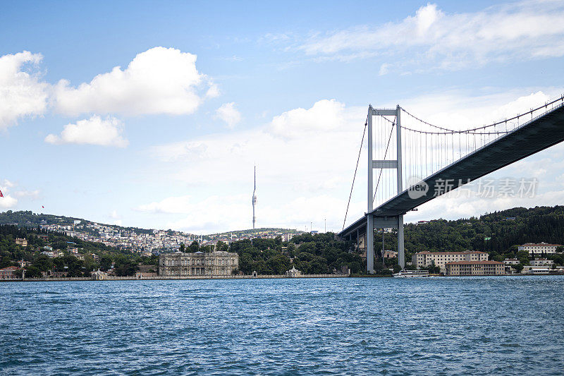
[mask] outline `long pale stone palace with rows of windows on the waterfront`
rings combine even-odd
[[[166,253],[159,256],[159,276],[225,276],[239,269],[239,255],[231,252]]]

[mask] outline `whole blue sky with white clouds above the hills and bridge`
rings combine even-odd
[[[245,229],[256,163],[259,226],[337,230],[368,104],[464,128],[564,92],[561,1],[2,8],[0,210]],[[563,155],[496,173],[539,178],[535,198],[441,198],[407,220],[555,205]]]

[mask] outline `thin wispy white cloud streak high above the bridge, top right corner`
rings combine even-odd
[[[458,69],[563,56],[563,18],[561,1],[524,1],[475,13],[445,13],[427,4],[400,22],[314,34],[298,49],[339,61],[405,53],[407,65]]]

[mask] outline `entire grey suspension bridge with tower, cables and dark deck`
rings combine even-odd
[[[564,95],[510,119],[456,128],[433,125],[399,105],[396,109],[369,106],[343,231],[338,234],[357,245],[363,241],[368,272],[374,272],[374,229],[398,229],[398,264],[404,268],[407,212],[563,141]],[[365,136],[367,212],[345,227]]]

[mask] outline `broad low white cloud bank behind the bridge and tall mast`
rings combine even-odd
[[[525,89],[480,96],[450,91],[401,99],[400,104],[436,125],[468,128],[544,104],[561,90]],[[381,106],[393,107],[393,103]],[[259,226],[309,229],[309,222],[314,222],[314,229],[324,229],[326,219],[327,229],[337,231],[343,226],[366,110],[349,107],[336,99],[321,99],[310,107],[284,111],[250,130],[203,135],[152,147],[148,154],[154,155],[157,169],[162,171],[154,178],[175,181],[175,186],[188,186],[188,195],[157,195],[137,210],[167,218],[166,226],[172,229],[192,232],[248,229],[252,217],[252,166],[257,162]],[[410,119],[403,116],[402,121],[409,124]],[[564,149],[556,146],[545,152],[558,150],[560,154],[554,155],[551,165],[564,157]],[[366,210],[365,156],[364,151],[348,224]],[[534,206],[538,202],[549,205],[560,198],[554,192],[562,190],[564,179],[559,186],[551,186],[556,176],[538,170],[539,164],[522,161],[500,172],[539,178],[539,188],[544,191],[536,199],[523,198],[515,201],[515,205]],[[406,220],[458,218],[515,206],[506,201],[439,198],[422,206],[419,212],[411,213]]]

